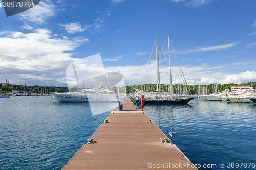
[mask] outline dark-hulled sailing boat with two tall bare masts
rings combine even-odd
[[[172,43],[172,41],[170,41],[170,37],[168,35],[168,48],[169,48],[169,68],[170,68],[170,98],[162,98],[161,96],[161,84],[160,84],[160,72],[159,72],[159,54],[158,54],[158,40],[157,40],[157,37],[156,37],[156,63],[157,63],[157,93],[154,93],[156,94],[155,96],[153,96],[153,98],[150,98],[148,96],[145,96],[144,98],[144,102],[145,103],[159,103],[159,104],[186,104],[188,103],[190,100],[194,99],[194,98],[173,98],[173,92],[172,92],[172,68],[170,67],[170,43]],[[172,48],[173,48],[173,44],[172,44]],[[175,51],[174,51],[174,48],[173,48],[173,52],[175,54]],[[176,54],[175,54],[176,55]],[[177,58],[177,57],[176,57]],[[182,72],[181,70],[181,67],[179,67],[180,71]],[[183,75],[183,72],[182,72],[182,75]],[[181,75],[181,76],[182,76]],[[186,79],[183,75],[182,77],[183,79],[183,82],[185,80],[186,82]],[[184,84],[185,84],[184,82]],[[186,88],[187,87],[187,83],[185,84]]]

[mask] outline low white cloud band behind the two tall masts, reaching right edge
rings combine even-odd
[[[137,84],[155,84],[156,83],[156,61],[151,61],[148,65],[138,65],[138,66],[118,66],[118,67],[105,67],[107,72],[120,72],[125,79],[126,85]],[[200,66],[182,66],[183,73],[187,80],[188,84],[227,84],[227,83],[247,83],[250,81],[255,81],[256,72],[246,71],[238,74],[227,74],[223,71],[220,71],[219,67],[209,67],[208,65]],[[144,69],[141,69],[144,68]],[[173,84],[183,84],[182,78],[178,67],[172,67],[172,79]],[[140,71],[138,71],[140,70]],[[167,67],[167,70],[169,68]],[[166,73],[166,68],[164,66],[160,67],[160,82],[163,84],[169,84],[169,77]]]

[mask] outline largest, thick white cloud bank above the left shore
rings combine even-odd
[[[88,41],[56,38],[48,29],[7,32],[0,38],[0,78],[12,77],[16,84],[65,85],[67,66],[78,60],[65,51],[74,51]]]

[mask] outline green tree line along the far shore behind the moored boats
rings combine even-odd
[[[202,94],[202,93],[215,93],[219,91],[225,91],[229,89],[231,91],[231,87],[233,86],[246,86],[249,85],[255,89],[256,82],[242,83],[242,84],[208,84],[208,85],[188,85],[188,88],[184,84],[174,84],[172,87],[172,92],[176,94]],[[161,92],[170,92],[170,85],[161,84]],[[189,90],[190,92],[189,92]],[[143,84],[143,85],[133,85],[126,86],[126,92],[128,94],[136,93],[138,91],[156,91],[157,84]],[[28,86],[28,85],[14,85],[14,84],[5,84],[0,83],[0,93],[39,93],[39,94],[49,94],[54,92],[68,92],[68,87],[55,87],[55,86]]]

